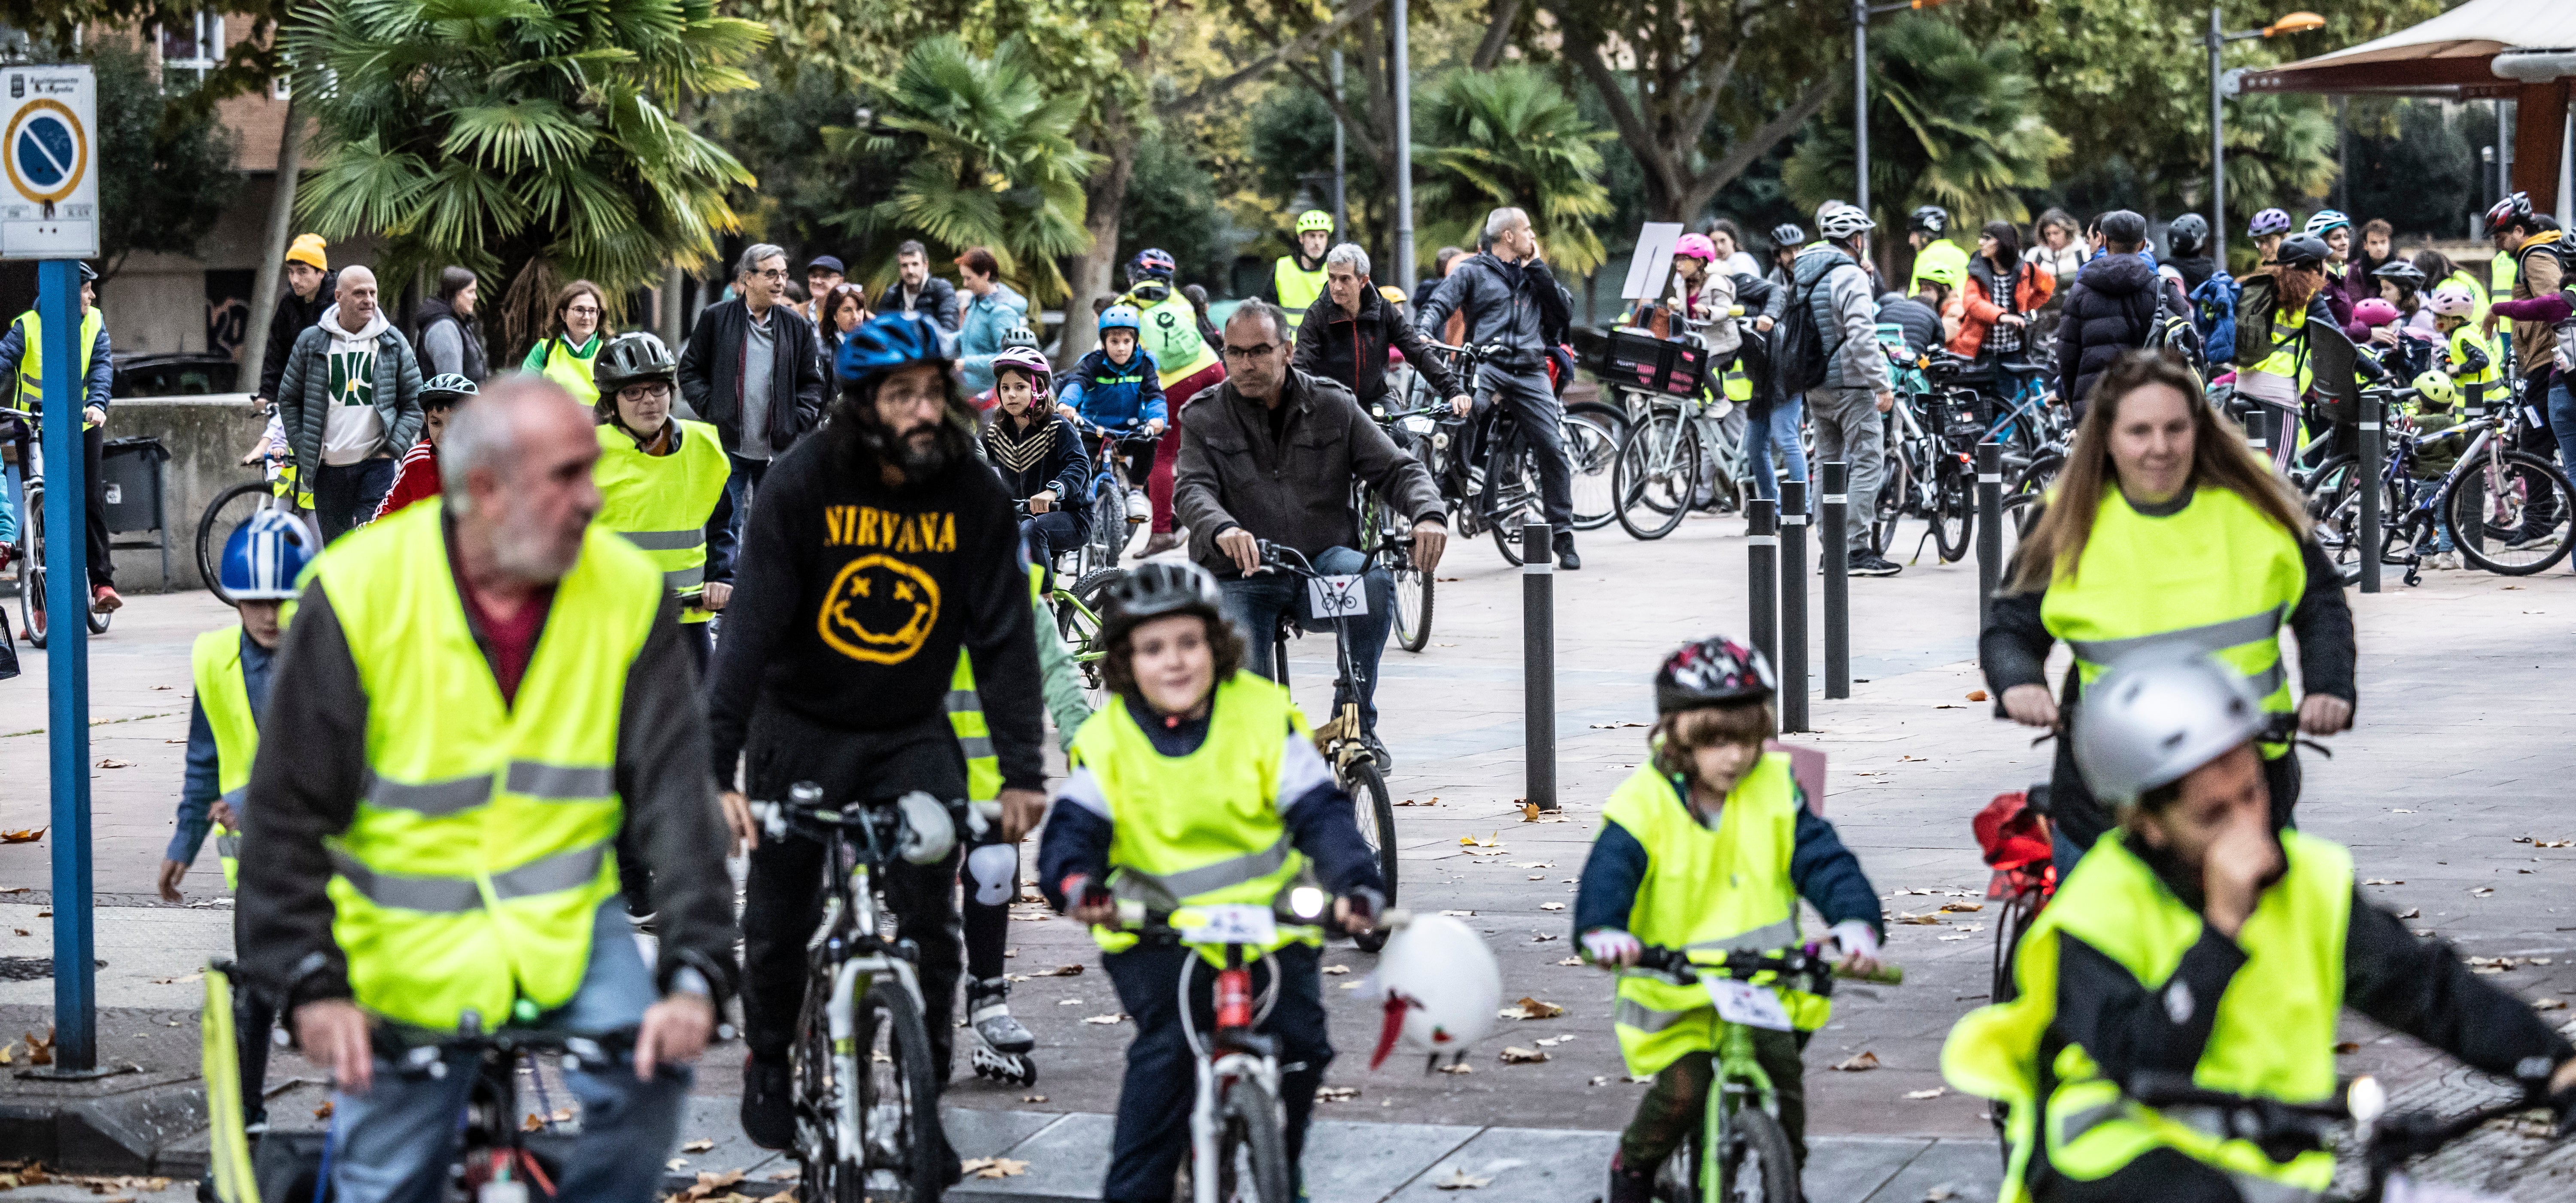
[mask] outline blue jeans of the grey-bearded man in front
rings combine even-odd
[[[626,907],[611,899],[590,933],[590,969],[572,1002],[536,1028],[616,1030],[644,1020],[657,999],[636,951]],[[572,1146],[556,1198],[647,1203],[662,1193],[662,1159],[680,1139],[690,1069],[662,1066],[652,1082],[631,1069],[564,1074],[582,1100],[582,1139]],[[379,1059],[366,1095],[332,1092],[332,1198],[337,1203],[433,1203],[446,1198],[459,1121],[474,1090],[474,1056],[448,1056],[446,1077],[399,1077]]]

